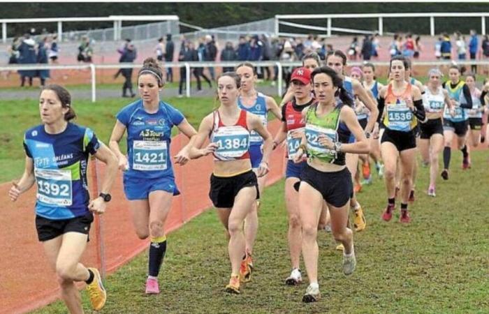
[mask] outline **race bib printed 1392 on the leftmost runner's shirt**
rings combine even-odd
[[[73,204],[71,170],[35,168],[34,176],[40,202],[63,207]]]

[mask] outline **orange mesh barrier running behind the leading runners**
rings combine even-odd
[[[279,125],[277,120],[270,121],[268,128],[275,134]],[[170,145],[172,156],[187,143],[188,139],[184,135],[173,137]],[[282,179],[285,162],[284,147],[277,147],[270,156],[267,185]],[[173,198],[165,225],[167,233],[212,207],[207,195],[212,163],[212,156],[207,156],[191,160],[184,166],[174,165],[175,179],[182,194]],[[103,178],[103,172],[103,163],[89,163],[91,195],[98,195],[98,181]],[[4,204],[0,215],[1,314],[27,313],[59,298],[56,275],[48,266],[43,246],[37,240],[33,212],[36,188],[21,195],[17,202],[10,202],[10,186],[10,183],[0,184],[0,200]],[[126,264],[147,249],[149,244],[149,240],[136,237],[120,172],[111,194],[112,202],[108,203],[105,214],[96,216],[92,224],[90,241],[82,257],[84,264],[98,267],[102,274],[110,274]],[[84,285],[80,284],[79,287]]]

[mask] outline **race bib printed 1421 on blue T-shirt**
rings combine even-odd
[[[168,168],[167,156],[166,142],[133,142],[133,170],[166,170]]]

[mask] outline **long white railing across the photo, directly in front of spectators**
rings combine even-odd
[[[389,66],[388,61],[369,61],[373,63],[374,66]],[[185,96],[190,97],[190,83],[191,83],[191,68],[234,68],[242,61],[226,61],[226,62],[168,62],[163,64],[163,68],[186,68],[185,77]],[[413,65],[414,68],[417,66],[451,66],[453,64],[459,64],[464,66],[489,66],[489,60],[460,60],[460,61],[416,61]],[[291,68],[302,66],[300,61],[293,62],[282,62],[282,61],[260,61],[251,62],[254,66],[277,66],[277,95],[282,96],[284,91],[284,80],[282,79],[282,73],[284,68]],[[349,62],[348,66],[361,66],[363,61]],[[134,63],[117,63],[117,64],[81,64],[81,65],[67,65],[67,66],[53,66],[46,64],[26,64],[24,66],[0,66],[1,71],[13,71],[13,70],[63,70],[63,69],[90,69],[91,72],[91,85],[92,85],[92,102],[96,102],[96,70],[98,69],[119,69],[119,68],[140,68],[139,64]]]

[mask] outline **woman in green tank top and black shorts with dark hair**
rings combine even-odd
[[[333,236],[344,245],[343,272],[349,275],[355,269],[353,233],[346,227],[353,184],[344,155],[368,154],[370,150],[367,137],[350,107],[352,100],[343,88],[342,78],[325,66],[313,71],[312,82],[318,103],[302,112],[305,134],[294,158],[294,162],[299,163],[302,154],[308,156],[299,186],[302,255],[309,277],[309,287],[302,297],[304,302],[317,301],[320,296],[316,236],[324,201],[330,209]],[[337,104],[335,96],[339,96],[342,103]],[[350,133],[357,139],[351,144],[348,143]]]

